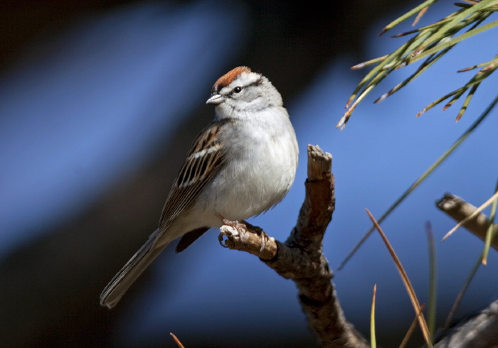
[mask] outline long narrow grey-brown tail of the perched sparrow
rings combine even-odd
[[[132,259],[120,269],[119,272],[112,278],[112,281],[107,284],[105,289],[100,294],[100,305],[113,308],[121,299],[122,295],[126,293],[128,288],[137,280],[142,272],[149,266],[149,264],[156,259],[157,255],[168,244],[161,245],[159,248],[154,248],[154,241],[156,240],[157,230],[149,236],[147,242],[142,248],[137,251]]]

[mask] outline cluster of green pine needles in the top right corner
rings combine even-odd
[[[415,7],[411,11],[408,11],[403,16],[397,18],[395,21],[389,23],[385,28],[382,29],[379,35],[386,33],[386,31],[391,30],[394,26],[397,26],[399,23],[406,21],[406,19],[414,16],[418,13],[418,16],[415,18],[415,23],[418,22],[423,13],[427,11],[430,5],[434,4],[438,0],[428,0]],[[382,57],[375,58],[373,60],[369,60],[367,62],[363,62],[359,65],[355,65],[351,67],[351,69],[360,69],[362,67],[366,67],[367,65],[374,65],[375,67],[359,82],[354,92],[349,97],[348,102],[346,103],[346,112],[339,120],[337,124],[337,128],[341,127],[344,129],[347,121],[349,121],[349,117],[354,112],[354,109],[358,106],[361,100],[369,94],[374,87],[378,85],[385,77],[387,77],[391,72],[397,70],[401,67],[405,67],[406,65],[413,64],[414,62],[418,62],[418,60],[425,60],[418,67],[418,69],[410,75],[406,80],[393,87],[388,92],[384,93],[381,97],[376,99],[376,103],[381,102],[383,99],[386,99],[390,95],[398,92],[401,88],[408,85],[409,82],[415,80],[416,77],[420,76],[423,72],[428,70],[428,68],[437,62],[440,58],[442,58],[446,53],[448,53],[451,48],[453,48],[457,43],[460,43],[462,40],[475,36],[475,34],[482,33],[483,31],[487,31],[490,28],[494,28],[494,26],[498,25],[498,21],[492,21],[490,23],[482,25],[482,22],[486,20],[492,13],[498,11],[498,0],[482,0],[482,1],[467,1],[468,4],[455,4],[458,9],[457,11],[451,13],[449,16],[432,23],[428,26],[424,26],[422,28],[415,29],[413,31],[408,31],[406,33],[401,33],[393,36],[394,38],[407,36],[410,34],[416,33],[415,36],[410,38],[406,43],[403,43],[399,48],[394,50],[393,53],[388,55],[383,55]],[[460,31],[466,29],[465,33],[460,33]],[[460,33],[460,35],[457,35]],[[443,97],[436,99],[434,102],[430,103],[427,107],[422,109],[417,116],[420,116],[424,112],[429,109],[435,107],[446,99],[450,98],[450,101],[445,104],[443,110],[450,107],[453,103],[457,101],[460,97],[462,97],[465,92],[468,91],[467,97],[460,108],[460,112],[457,114],[457,121],[462,117],[467,109],[472,97],[474,96],[477,87],[479,87],[480,83],[484,81],[489,75],[494,72],[494,70],[498,67],[498,55],[495,56],[492,60],[488,60],[487,62],[482,62],[480,64],[474,65],[472,67],[466,67],[462,70],[458,70],[458,72],[465,72],[469,70],[473,70],[477,67],[482,67],[465,85],[460,88],[455,89],[454,91],[445,94]]]

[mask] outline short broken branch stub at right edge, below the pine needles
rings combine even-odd
[[[451,193],[445,193],[443,198],[436,202],[436,206],[457,222],[470,217],[470,215],[477,209],[477,207],[474,207],[470,203],[465,202],[465,200],[462,200],[462,198],[452,195]],[[477,217],[470,219],[468,222],[463,224],[463,227],[472,232],[472,234],[475,234],[482,241],[486,241],[486,233],[489,228],[489,224],[487,216],[479,214]],[[494,232],[497,232],[498,224],[494,224],[493,229]],[[498,238],[495,238],[491,242],[491,246],[495,250],[498,250]]]

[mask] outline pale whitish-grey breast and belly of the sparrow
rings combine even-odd
[[[234,129],[226,137],[227,161],[232,163],[203,190],[204,200],[198,202],[204,204],[194,210],[231,220],[248,219],[276,205],[290,190],[298,155],[294,129],[285,114],[264,132]]]

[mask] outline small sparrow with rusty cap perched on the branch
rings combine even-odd
[[[299,149],[282,97],[240,66],[221,76],[206,104],[215,116],[196,137],[169,191],[159,227],[100,295],[113,308],[171,241],[184,251],[223,219],[243,221],[277,205],[295,179]]]

